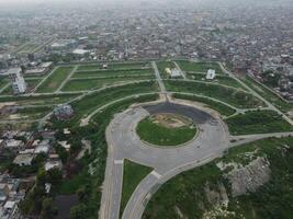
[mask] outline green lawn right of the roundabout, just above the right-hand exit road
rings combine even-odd
[[[233,135],[292,131],[293,127],[273,111],[251,111],[226,119]]]

